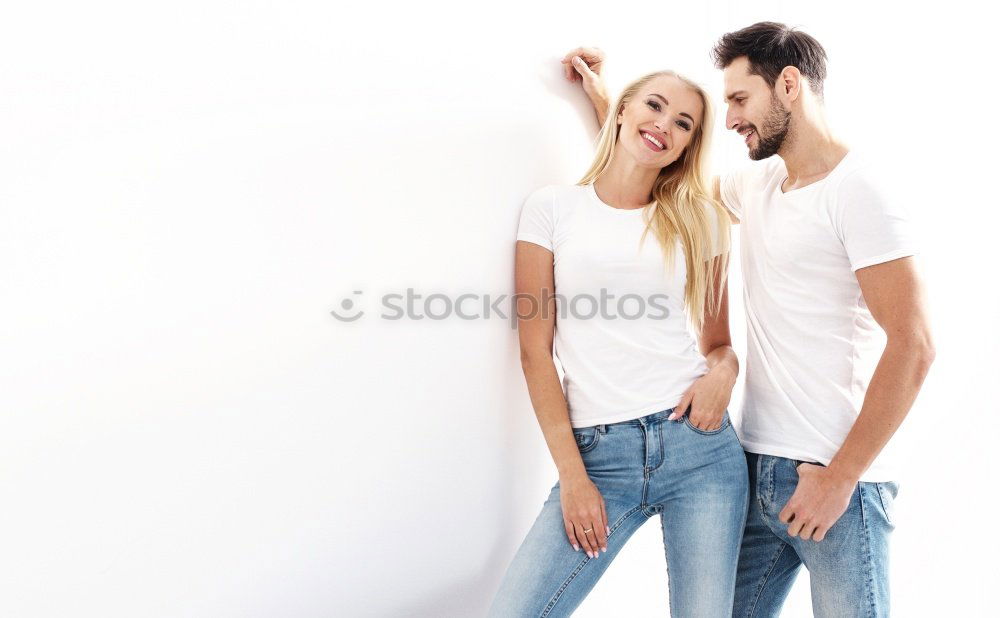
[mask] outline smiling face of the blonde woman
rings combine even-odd
[[[701,125],[698,93],[672,75],[643,86],[618,114],[618,148],[642,167],[664,168],[684,153]]]

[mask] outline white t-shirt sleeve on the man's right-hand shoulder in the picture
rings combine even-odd
[[[869,173],[845,178],[837,188],[835,207],[834,225],[851,270],[918,253],[909,213],[888,199]]]

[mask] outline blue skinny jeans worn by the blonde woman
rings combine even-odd
[[[687,416],[667,420],[671,412],[573,430],[604,498],[608,551],[590,558],[570,545],[557,482],[508,566],[490,616],[569,616],[629,537],[659,514],[671,614],[728,618],[747,514],[746,458],[728,412],[708,432]]]

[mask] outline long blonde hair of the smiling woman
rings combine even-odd
[[[662,75],[676,77],[698,93],[704,112],[702,121],[695,127],[694,135],[684,153],[660,170],[659,176],[653,183],[652,193],[656,204],[650,209],[652,215],[646,218],[646,229],[642,233],[640,243],[652,229],[663,250],[667,272],[671,272],[676,242],[680,240],[687,267],[684,307],[687,309],[691,325],[700,332],[704,325],[706,309],[712,314],[717,314],[721,307],[722,290],[725,289],[728,271],[730,226],[728,213],[712,196],[705,178],[705,169],[708,166],[707,136],[712,133],[713,118],[711,101],[705,90],[673,71],[656,71],[630,83],[610,108],[598,135],[594,162],[577,184],[590,184],[608,169],[621,130],[621,125],[617,122],[618,114],[643,86]],[[717,230],[717,240],[714,240],[713,225]],[[718,259],[713,259],[712,256],[715,242],[718,242],[719,247],[723,249]]]

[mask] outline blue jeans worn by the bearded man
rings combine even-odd
[[[844,515],[822,541],[788,535],[778,513],[798,484],[784,457],[747,453],[750,505],[733,616],[778,616],[799,567],[809,569],[813,615],[818,618],[889,615],[889,533],[893,482],[858,483]]]

